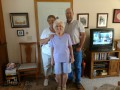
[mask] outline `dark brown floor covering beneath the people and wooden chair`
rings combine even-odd
[[[43,81],[44,78],[39,78],[39,80],[24,78],[17,86],[0,86],[0,90],[57,90],[57,83],[53,77],[50,77],[47,87],[43,86]],[[74,83],[67,84],[67,90],[85,90],[82,85],[81,88],[77,89]]]

